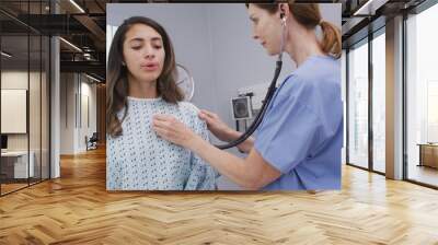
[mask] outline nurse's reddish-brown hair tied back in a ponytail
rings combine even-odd
[[[257,8],[266,10],[268,13],[274,14],[279,10],[279,3],[252,3]],[[341,31],[334,24],[323,21],[321,18],[320,5],[318,3],[295,3],[293,0],[287,1],[289,10],[293,19],[308,30],[314,30],[318,25],[321,26],[323,37],[320,43],[321,49],[336,59],[342,55],[342,36]],[[246,8],[249,3],[246,3]]]

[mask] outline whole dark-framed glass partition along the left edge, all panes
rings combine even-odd
[[[0,195],[49,177],[49,38],[26,25],[49,1],[1,1]],[[41,19],[37,19],[41,20]]]

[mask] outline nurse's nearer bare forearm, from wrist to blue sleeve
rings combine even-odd
[[[255,149],[250,151],[246,159],[240,159],[198,137],[191,143],[189,149],[219,173],[245,189],[261,189],[281,175]]]

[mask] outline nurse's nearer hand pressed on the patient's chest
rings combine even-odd
[[[163,139],[187,149],[191,149],[194,141],[199,138],[187,126],[170,115],[154,115],[152,129]]]

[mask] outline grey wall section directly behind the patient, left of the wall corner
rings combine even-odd
[[[208,27],[208,7],[206,4],[107,4],[107,24],[118,26],[130,16],[142,15],[159,22],[170,35],[176,62],[187,67],[195,80],[194,104],[217,110],[211,40]],[[108,40],[107,40],[108,42]]]

